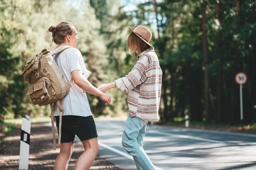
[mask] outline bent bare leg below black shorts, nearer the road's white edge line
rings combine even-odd
[[[76,161],[75,170],[89,170],[99,152],[97,137],[82,141],[82,143],[85,151]]]

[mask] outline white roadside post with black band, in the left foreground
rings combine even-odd
[[[22,118],[20,132],[20,165],[19,170],[28,170],[29,168],[29,144],[30,144],[31,123]]]

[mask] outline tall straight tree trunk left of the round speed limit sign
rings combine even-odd
[[[203,51],[204,51],[204,98],[205,98],[205,116],[206,122],[210,121],[209,116],[209,77],[208,77],[208,65],[207,65],[207,33],[206,33],[206,4],[204,1],[201,1],[201,10],[202,10],[202,31],[203,31]]]

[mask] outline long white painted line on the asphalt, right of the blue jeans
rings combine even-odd
[[[165,135],[165,136],[176,136],[178,138],[194,139],[194,140],[198,140],[198,141],[205,141],[205,142],[212,142],[212,143],[221,143],[221,144],[225,143],[223,141],[216,141],[216,140],[198,138],[198,137],[187,136],[187,135],[177,135],[177,134],[174,134],[174,133],[165,133],[165,132],[159,132],[159,131],[155,131],[155,130],[148,130],[147,133],[154,133],[154,134],[160,134],[160,135]]]

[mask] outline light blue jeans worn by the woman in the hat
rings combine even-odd
[[[130,113],[125,124],[122,137],[122,146],[127,153],[133,156],[137,170],[154,170],[154,165],[143,149],[143,138],[148,121],[139,117],[131,117]]]

